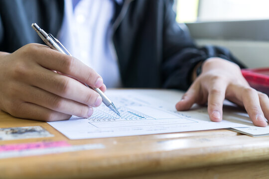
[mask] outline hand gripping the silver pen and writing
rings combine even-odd
[[[44,121],[89,117],[92,106],[99,106],[102,98],[75,79],[106,90],[93,69],[45,45],[28,44],[11,54],[1,52],[0,109],[15,117]]]

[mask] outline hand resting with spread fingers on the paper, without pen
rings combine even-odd
[[[176,109],[188,110],[194,103],[208,102],[210,119],[220,122],[225,98],[244,106],[256,126],[268,125],[268,95],[251,88],[236,64],[220,58],[204,62],[201,75],[176,104]]]

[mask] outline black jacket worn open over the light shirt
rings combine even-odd
[[[173,0],[124,0],[112,23],[124,87],[187,89],[194,66],[209,57],[236,59],[227,49],[198,49],[185,26],[175,21]],[[57,34],[64,0],[0,0],[0,51],[43,43],[31,24]]]

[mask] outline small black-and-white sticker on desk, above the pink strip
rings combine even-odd
[[[0,128],[0,140],[53,137],[41,126]]]

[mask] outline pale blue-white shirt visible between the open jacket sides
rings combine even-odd
[[[58,34],[66,49],[100,74],[108,88],[121,87],[117,57],[112,53],[114,9],[113,0],[80,0],[74,10],[72,0],[65,0]]]

